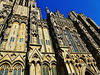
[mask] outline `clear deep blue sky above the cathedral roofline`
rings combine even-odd
[[[56,9],[64,14],[74,10],[76,13],[84,13],[92,18],[100,27],[100,0],[36,0],[37,6],[41,8],[42,18],[46,18],[46,6],[50,11],[55,12]]]

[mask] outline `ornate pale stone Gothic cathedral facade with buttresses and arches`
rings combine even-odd
[[[0,0],[0,75],[100,75],[100,27],[36,0]]]

